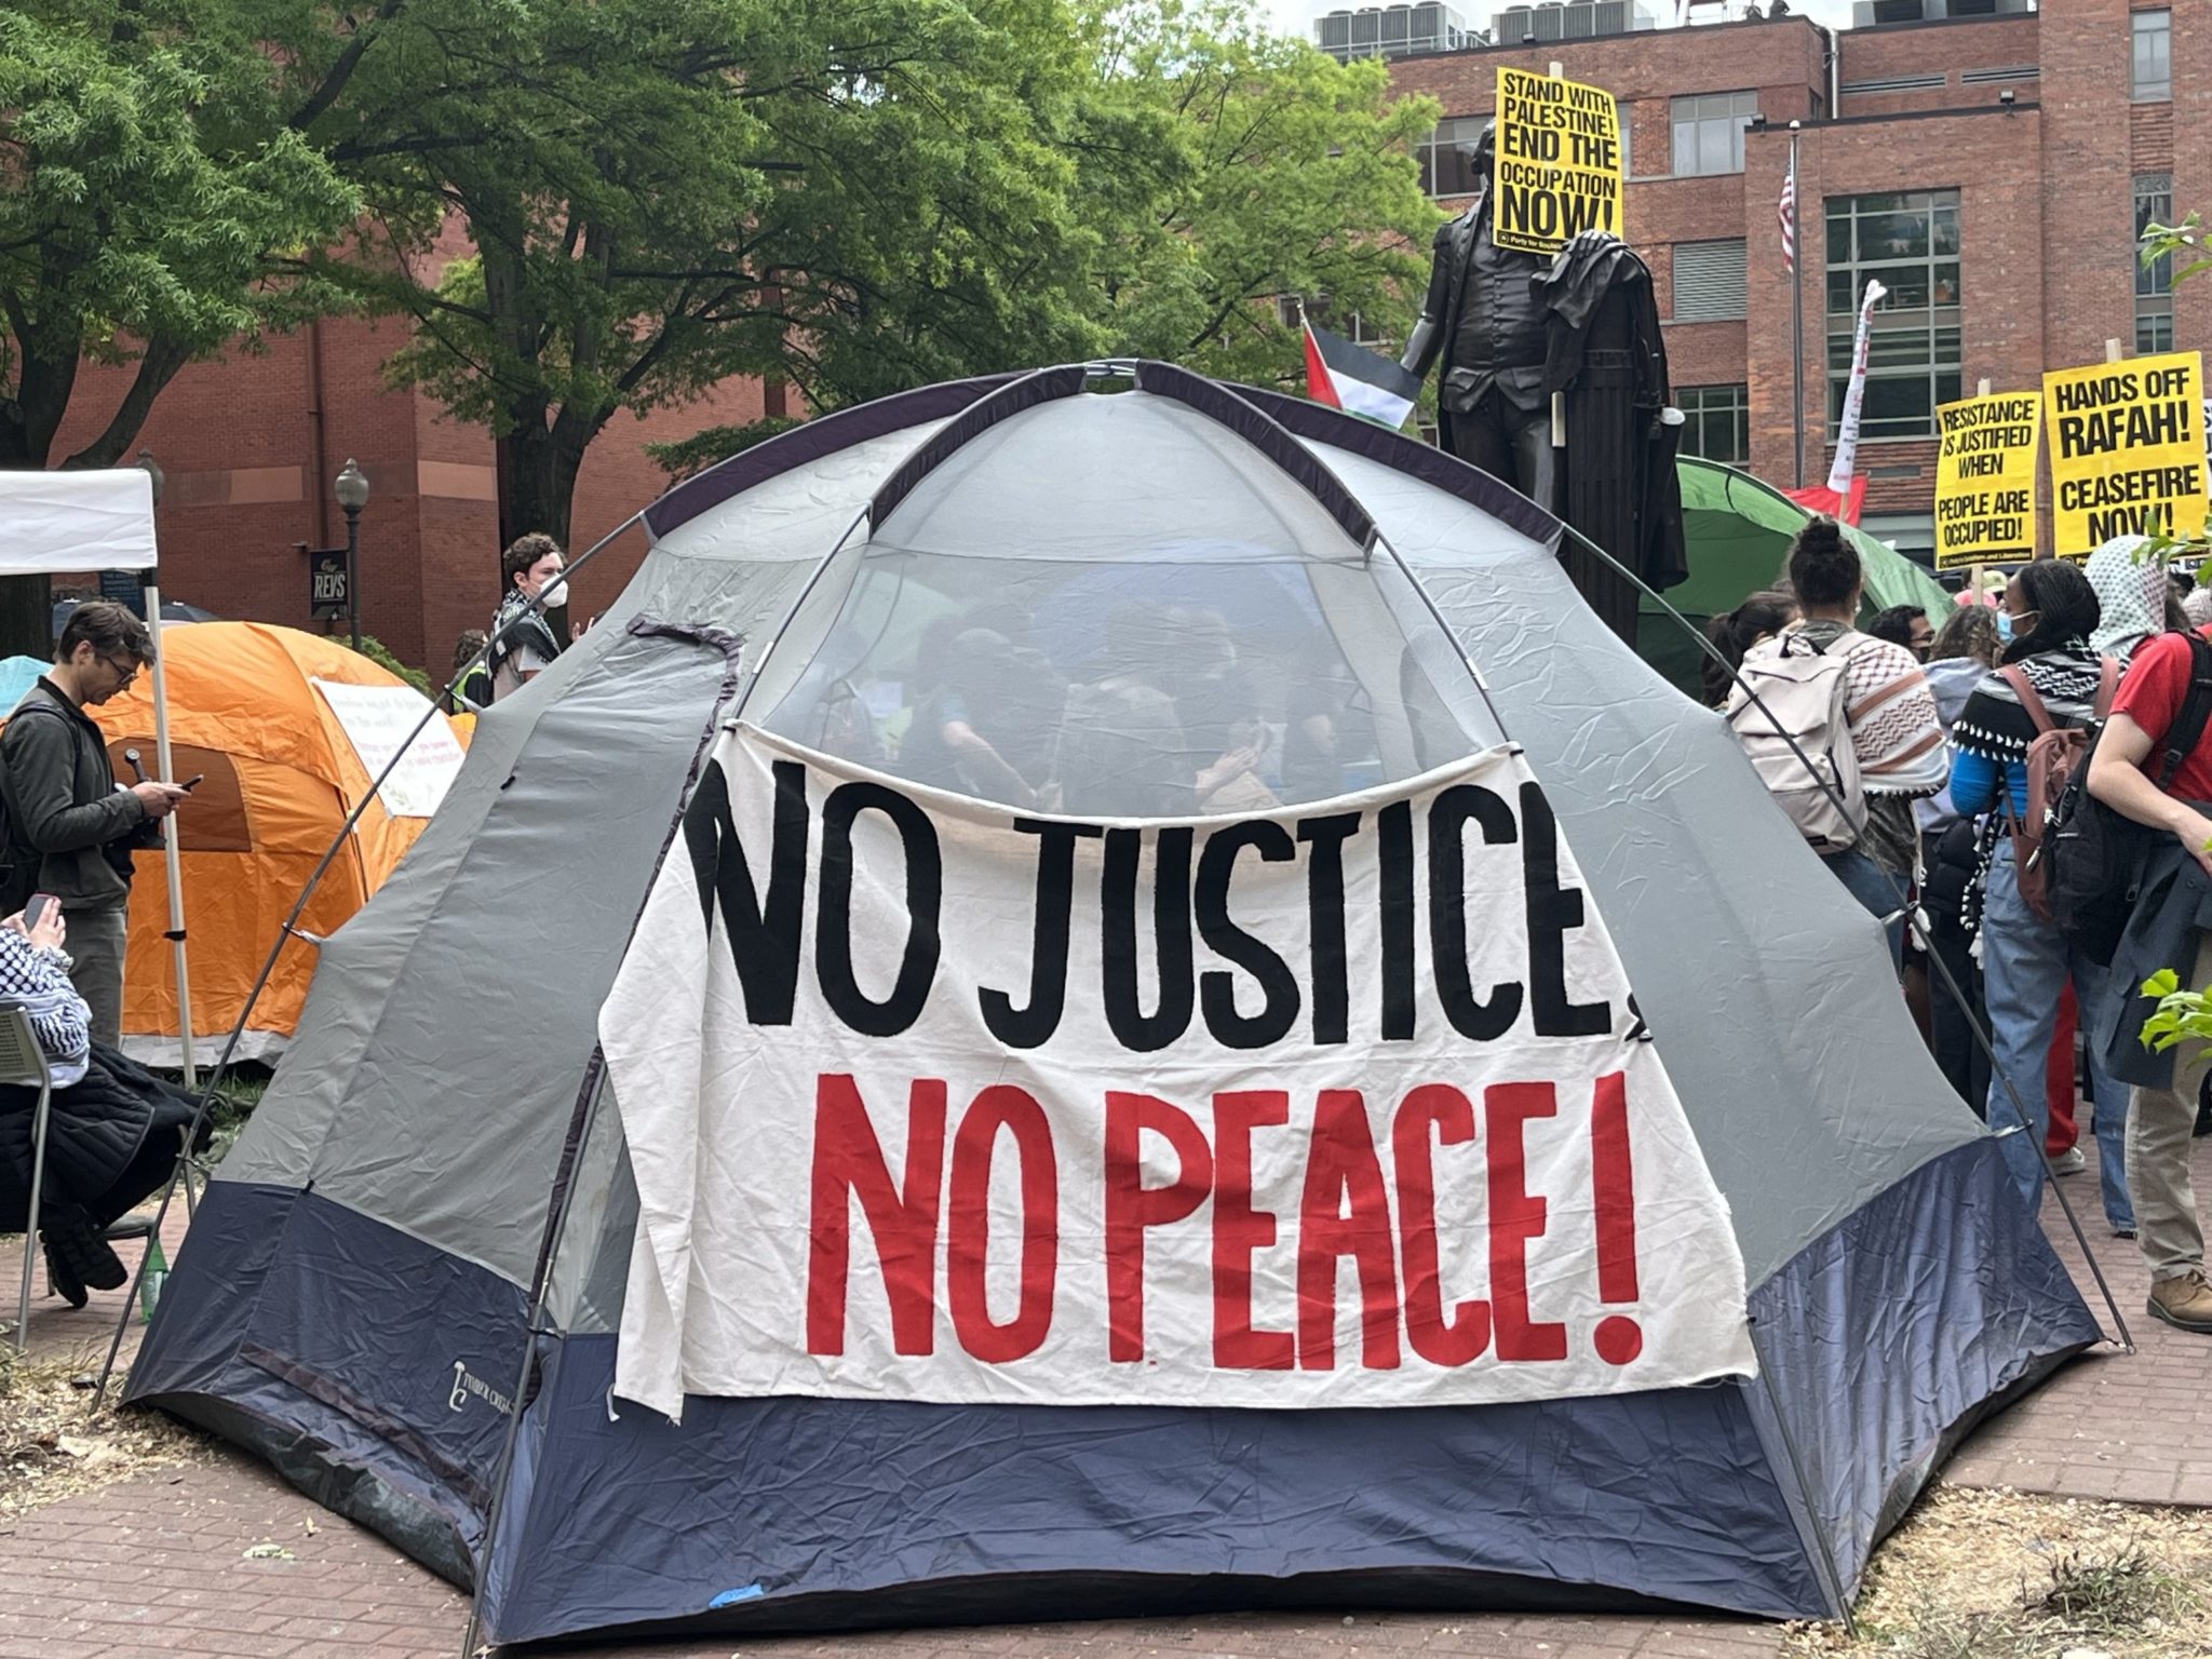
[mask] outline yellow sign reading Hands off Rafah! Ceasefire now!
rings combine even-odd
[[[2168,352],[2044,376],[2055,551],[2205,526],[2203,354]]]

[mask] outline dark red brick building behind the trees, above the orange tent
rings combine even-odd
[[[137,445],[166,478],[157,513],[164,597],[321,630],[299,544],[345,544],[330,484],[354,458],[372,491],[361,515],[363,633],[442,675],[460,630],[482,628],[500,599],[493,442],[429,396],[387,385],[383,365],[405,338],[400,321],[330,319],[195,363],[161,392]],[[106,425],[128,378],[128,369],[86,367],[55,453]],[[648,442],[759,420],[763,400],[774,398],[757,380],[730,380],[688,407],[615,416],[584,458],[573,551],[668,487]],[[595,560],[571,584],[571,615],[604,608],[644,551],[630,531]]]

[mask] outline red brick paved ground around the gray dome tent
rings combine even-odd
[[[2095,1148],[2090,1148],[2095,1159]],[[2212,1190],[2212,1141],[2197,1148]],[[2073,1498],[2212,1502],[2212,1345],[2143,1316],[2146,1272],[2097,1217],[2095,1172],[2066,1183],[2141,1349],[2088,1358],[1975,1436],[1944,1471]],[[2046,1217],[2084,1294],[2079,1252]],[[11,1261],[0,1252],[0,1285]],[[2095,1305],[2095,1301],[2093,1301]],[[108,1298],[108,1318],[115,1301]],[[2101,1312],[2101,1307],[2099,1307]],[[133,1327],[135,1329],[135,1327]],[[97,1352],[97,1303],[33,1312],[44,1354]],[[314,1524],[310,1533],[307,1526]],[[248,1559],[259,1544],[290,1559]],[[1075,1608],[1071,1608],[1073,1613]],[[223,1453],[0,1522],[0,1659],[451,1659],[465,1601],[372,1533]],[[659,1644],[568,1650],[577,1659],[1767,1659],[1774,1626],[1686,1619],[1520,1619],[1358,1613],[900,1630],[836,1639]]]

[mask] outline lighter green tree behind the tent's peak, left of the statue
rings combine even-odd
[[[1099,40],[1099,100],[1148,139],[1082,150],[1117,352],[1296,385],[1303,345],[1279,294],[1405,338],[1442,219],[1413,159],[1436,100],[1394,100],[1383,62],[1267,33],[1241,0],[1121,7]]]

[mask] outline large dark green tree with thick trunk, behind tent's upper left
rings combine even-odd
[[[491,427],[502,535],[566,538],[622,411],[1088,349],[1051,281],[1077,62],[1057,0],[411,0],[314,128],[374,234],[312,263],[416,321],[396,378]]]

